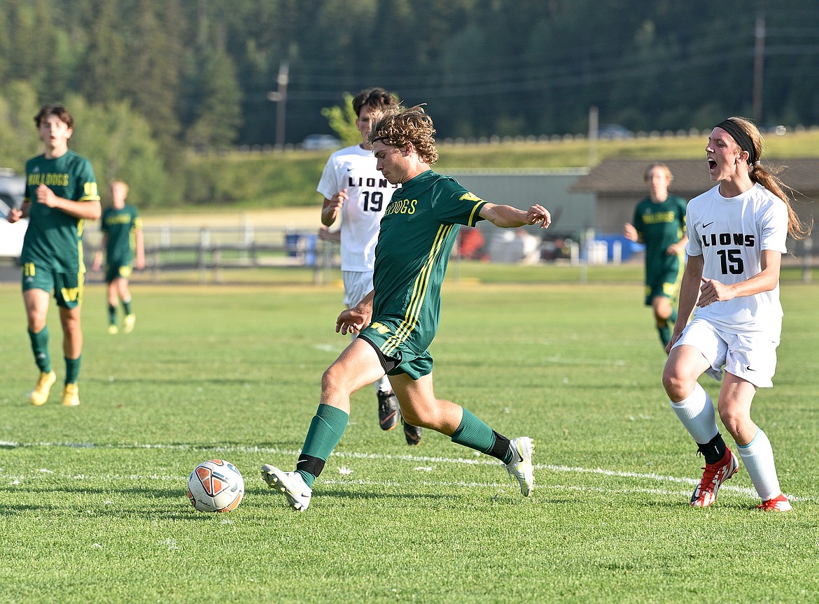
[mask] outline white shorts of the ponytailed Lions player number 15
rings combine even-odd
[[[705,372],[715,380],[722,380],[726,372],[749,381],[757,388],[770,388],[776,372],[776,346],[779,340],[763,333],[735,334],[722,331],[704,319],[693,319],[673,348],[693,346],[711,363]]]

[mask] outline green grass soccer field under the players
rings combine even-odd
[[[532,498],[443,435],[382,432],[367,389],[303,514],[258,471],[296,461],[348,341],[338,287],[137,284],[136,331],[108,336],[88,286],[83,403],[55,389],[34,408],[19,287],[0,284],[0,602],[819,601],[819,285],[784,282],[775,387],[754,406],[794,503],[777,515],[741,468],[688,507],[703,461],[663,394],[639,272],[551,274],[449,282],[432,349],[441,398],[536,439]],[[49,326],[62,378],[53,308]],[[242,471],[236,512],[188,503],[208,458]]]

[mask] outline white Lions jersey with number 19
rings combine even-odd
[[[375,244],[384,210],[392,192],[391,185],[377,169],[373,151],[360,145],[347,146],[333,153],[324,166],[317,191],[330,199],[346,189],[350,197],[342,205],[342,271],[372,271]]]

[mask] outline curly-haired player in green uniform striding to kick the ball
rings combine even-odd
[[[546,228],[551,217],[541,205],[523,211],[488,203],[454,178],[432,172],[438,160],[434,134],[432,119],[420,106],[388,109],[369,132],[378,169],[401,187],[382,219],[373,291],[337,319],[337,331],[359,336],[324,372],[319,408],[296,470],[268,464],[261,468],[267,485],[281,491],[294,510],[310,504],[314,480],[349,420],[351,394],[385,373],[407,421],[500,459],[518,480],[523,496],[532,494],[532,439],[508,439],[467,409],[438,399],[432,389],[429,345],[437,331],[441,283],[459,225],[472,227],[485,219],[503,228]]]

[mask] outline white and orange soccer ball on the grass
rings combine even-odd
[[[201,462],[188,476],[188,499],[199,512],[231,512],[244,494],[245,480],[223,459]]]

